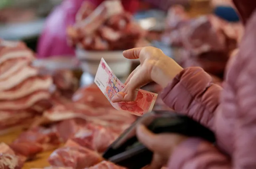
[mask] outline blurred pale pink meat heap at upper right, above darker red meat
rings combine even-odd
[[[241,23],[228,23],[213,15],[189,18],[180,6],[169,10],[166,22],[163,41],[184,46],[193,55],[212,50],[233,50],[244,32]]]

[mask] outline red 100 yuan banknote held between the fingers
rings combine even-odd
[[[113,103],[111,101],[112,97],[121,91],[125,85],[115,76],[115,74],[113,74],[103,58],[101,58],[101,63],[97,70],[94,82],[115,109],[130,111],[134,115],[141,116],[152,111],[155,100],[157,99],[156,93],[139,89],[135,101]]]

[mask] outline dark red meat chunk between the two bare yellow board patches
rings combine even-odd
[[[60,144],[56,129],[36,127],[21,133],[10,145],[12,149],[26,157],[58,147]]]

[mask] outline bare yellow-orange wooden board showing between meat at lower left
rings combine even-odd
[[[21,131],[16,131],[5,135],[0,135],[0,142],[4,142],[6,144],[12,143],[12,141],[14,141],[14,139],[16,139],[20,133]],[[46,151],[38,154],[36,159],[26,162],[22,169],[44,168],[50,166],[47,159],[51,153],[52,151]]]

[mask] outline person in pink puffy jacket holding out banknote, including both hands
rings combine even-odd
[[[217,139],[212,145],[199,138],[153,134],[138,126],[139,140],[154,152],[151,169],[256,169],[256,1],[233,1],[245,34],[228,63],[223,87],[212,83],[202,68],[183,69],[157,48],[123,52],[141,64],[113,102],[134,100],[137,88],[154,81],[164,88],[161,98],[166,105],[212,129]]]

